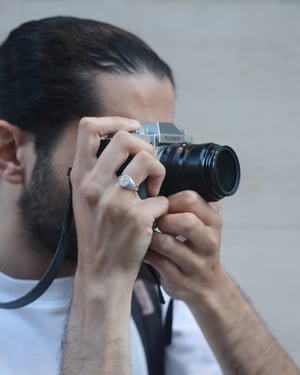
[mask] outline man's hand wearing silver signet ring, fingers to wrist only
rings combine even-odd
[[[156,197],[165,175],[152,145],[129,133],[138,123],[119,117],[80,122],[71,174],[78,237],[77,273],[97,279],[112,272],[133,282],[152,238],[155,220],[167,212],[166,198]],[[121,129],[121,130],[120,130]],[[97,158],[100,139],[114,134]],[[119,186],[116,173],[133,156],[123,174],[137,185],[147,178],[149,198]]]

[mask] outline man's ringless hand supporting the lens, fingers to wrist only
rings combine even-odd
[[[166,291],[187,304],[205,298],[220,269],[222,218],[219,203],[193,191],[169,197],[169,212],[157,221],[146,261],[160,273]]]

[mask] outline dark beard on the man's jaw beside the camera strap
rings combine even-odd
[[[66,171],[66,186],[67,186]],[[48,154],[37,152],[31,181],[19,201],[19,214],[26,234],[37,249],[53,255],[56,251],[67,204],[68,192],[55,176]],[[66,234],[65,260],[77,261],[77,238],[74,222],[69,223]]]

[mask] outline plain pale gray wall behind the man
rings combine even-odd
[[[139,34],[175,71],[176,123],[237,151],[222,261],[300,366],[300,1],[0,0],[0,39],[51,15]]]

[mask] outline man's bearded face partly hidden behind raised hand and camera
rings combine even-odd
[[[168,79],[151,74],[105,75],[99,79],[101,116],[122,116],[141,123],[173,122],[175,93]],[[19,209],[24,229],[34,246],[54,253],[60,236],[68,195],[68,167],[75,154],[78,122],[66,126],[51,156],[37,153],[31,181],[24,190]],[[68,235],[67,258],[76,261],[76,230]]]

